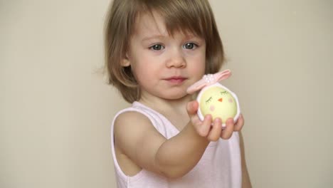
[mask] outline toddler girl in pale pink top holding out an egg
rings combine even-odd
[[[110,84],[132,103],[111,127],[118,187],[250,187],[243,117],[201,121],[186,93],[223,63],[208,1],[115,0],[105,52]]]

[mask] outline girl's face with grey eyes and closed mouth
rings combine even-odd
[[[190,32],[170,36],[159,14],[142,14],[122,66],[131,66],[142,98],[176,100],[205,71],[206,42]]]

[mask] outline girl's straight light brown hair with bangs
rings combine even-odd
[[[121,62],[137,16],[152,11],[164,18],[169,34],[189,31],[205,39],[206,73],[218,72],[224,61],[222,41],[207,0],[114,0],[105,22],[105,71],[108,83],[129,103],[139,100],[140,90],[130,66],[121,66]]]

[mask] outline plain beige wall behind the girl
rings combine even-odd
[[[0,0],[0,187],[115,187],[110,1]],[[332,187],[333,2],[211,1],[253,187]]]

